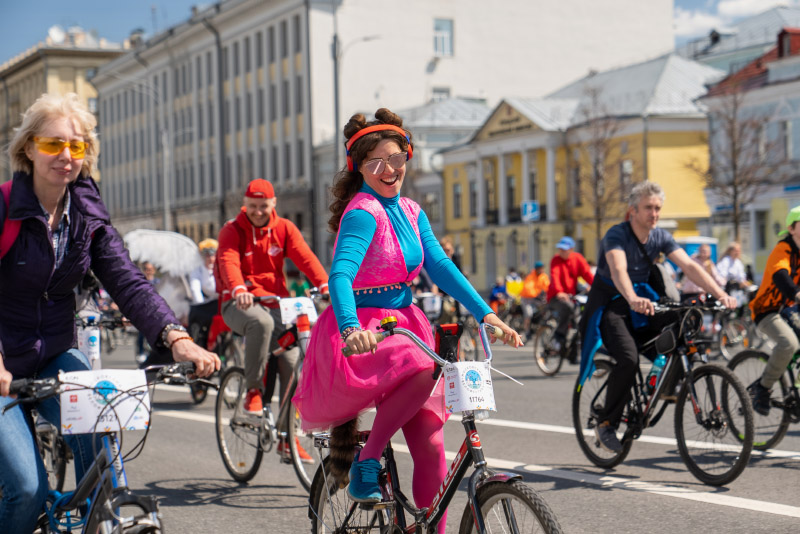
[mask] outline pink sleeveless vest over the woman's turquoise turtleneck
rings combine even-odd
[[[419,204],[410,198],[401,197],[400,208],[411,223],[417,239],[420,239],[417,223],[420,211]],[[400,241],[397,239],[394,228],[390,224],[389,215],[386,214],[386,210],[380,201],[368,193],[357,193],[347,204],[342,217],[348,211],[354,209],[361,209],[370,213],[375,217],[378,227],[372,236],[372,243],[367,249],[364,261],[361,262],[361,267],[358,268],[356,279],[353,281],[353,289],[404,284],[414,280],[422,269],[422,262],[410,273],[406,270],[406,261],[403,257]],[[338,236],[336,241],[338,243]],[[333,247],[335,251],[336,243],[334,243]],[[420,249],[422,249],[422,241],[420,241]],[[424,251],[422,252],[422,260],[425,260]]]

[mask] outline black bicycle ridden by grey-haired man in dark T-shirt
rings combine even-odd
[[[705,351],[699,351],[694,337],[702,327],[703,311],[719,311],[719,305],[657,305],[656,312],[676,312],[676,322],[660,335],[644,343],[640,354],[663,354],[667,363],[652,391],[648,391],[641,368],[631,391],[631,400],[622,417],[622,450],[609,452],[595,437],[601,422],[599,411],[605,405],[608,378],[613,358],[595,357],[594,364],[603,378],[581,377],[572,396],[572,420],[578,444],[596,466],[606,469],[621,463],[633,441],[655,426],[667,406],[675,404],[675,436],[678,451],[689,471],[705,484],[721,486],[738,477],[750,459],[753,448],[753,412],[750,397],[741,381],[727,368],[709,364]],[[651,358],[651,359],[652,359]]]

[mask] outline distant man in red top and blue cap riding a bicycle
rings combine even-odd
[[[567,328],[573,309],[572,297],[578,290],[578,278],[583,278],[591,284],[594,275],[583,254],[575,252],[575,240],[571,237],[562,237],[556,244],[556,250],[556,255],[550,260],[547,305],[558,320],[554,342],[560,348],[566,344]]]

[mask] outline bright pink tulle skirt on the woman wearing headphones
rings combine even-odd
[[[394,316],[397,325],[417,334],[433,347],[431,325],[418,307],[399,310],[360,308],[358,320],[362,328],[377,330],[381,319]],[[386,338],[375,354],[342,354],[344,342],[333,308],[329,306],[311,330],[297,391],[292,398],[302,416],[304,430],[324,430],[353,419],[361,412],[381,403],[396,387],[420,371],[433,372],[435,363],[410,339],[395,335]],[[431,390],[434,380],[431,378]],[[442,422],[444,385],[440,381],[423,410],[435,413]]]

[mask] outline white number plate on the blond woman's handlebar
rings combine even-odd
[[[102,369],[60,373],[61,433],[146,430],[150,395],[143,370]]]

